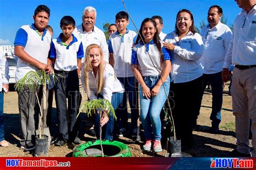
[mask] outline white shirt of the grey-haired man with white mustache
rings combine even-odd
[[[93,26],[93,30],[91,32],[86,32],[83,30],[83,24],[81,24],[76,27],[76,29],[73,31],[73,34],[75,37],[82,40],[84,54],[86,52],[87,46],[91,44],[97,44],[103,50],[104,60],[109,62],[109,50],[107,49],[105,34],[102,30],[98,29],[97,26]],[[84,62],[84,59],[85,58],[82,59],[82,63]]]

